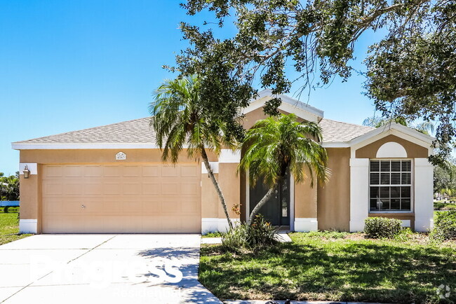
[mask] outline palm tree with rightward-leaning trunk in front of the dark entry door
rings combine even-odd
[[[298,183],[307,179],[306,169],[312,187],[314,175],[319,181],[326,182],[329,177],[326,168],[328,156],[326,149],[318,144],[321,138],[321,127],[316,123],[298,123],[294,114],[258,120],[248,130],[238,171],[248,170],[253,185],[263,181],[269,186],[269,191],[250,213],[249,223],[286,179],[288,171]]]

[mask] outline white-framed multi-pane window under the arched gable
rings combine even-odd
[[[411,160],[370,160],[370,211],[410,211]]]

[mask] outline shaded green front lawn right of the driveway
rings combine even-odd
[[[456,300],[456,244],[427,236],[366,240],[361,234],[292,233],[292,243],[256,254],[201,248],[199,280],[222,299],[438,302],[440,284]]]

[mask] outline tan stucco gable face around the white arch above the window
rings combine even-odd
[[[396,135],[388,135],[387,137],[374,141],[372,144],[358,148],[358,150],[356,150],[356,158],[377,158],[378,148],[389,141],[401,144],[405,148],[405,151],[407,151],[407,158],[427,158],[428,156],[427,148],[402,139],[401,137],[397,137]]]

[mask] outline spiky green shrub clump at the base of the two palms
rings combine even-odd
[[[222,235],[222,247],[232,252],[269,247],[278,242],[276,239],[278,229],[264,220],[263,216],[257,215],[250,225],[241,223]]]

